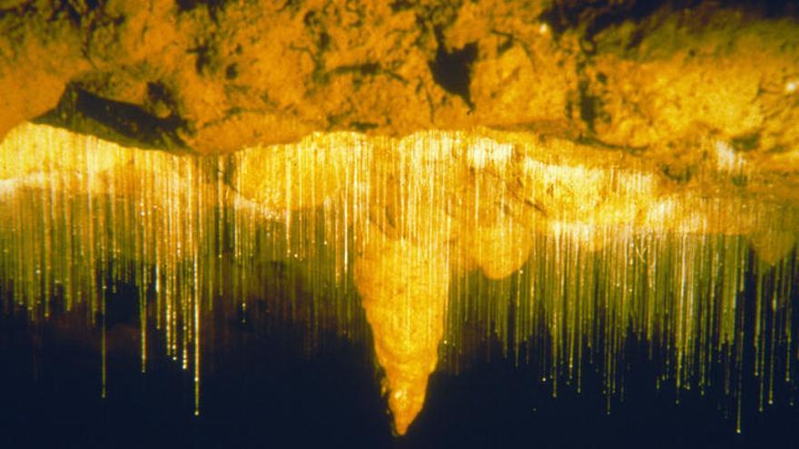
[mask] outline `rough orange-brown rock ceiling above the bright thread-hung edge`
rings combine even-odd
[[[686,177],[700,133],[795,151],[799,24],[773,4],[5,0],[0,134],[60,98],[39,120],[162,149],[479,125]]]

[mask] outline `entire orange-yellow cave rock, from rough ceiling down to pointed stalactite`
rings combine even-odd
[[[609,228],[746,235],[770,264],[794,249],[797,13],[787,1],[0,0],[0,140],[35,121],[126,147],[238,151],[217,193],[236,207],[288,223],[340,201],[403,434],[438,361],[450,274],[507,278],[539,233],[593,251]],[[102,173],[80,184],[90,192],[131,171],[192,173],[159,186],[173,193],[203,182],[193,158],[115,147],[85,161],[58,154],[50,128],[18,130],[17,152],[0,154],[9,198],[46,173]],[[11,141],[25,132],[39,146],[22,154]]]

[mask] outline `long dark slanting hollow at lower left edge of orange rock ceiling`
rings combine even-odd
[[[126,146],[172,151],[187,148],[177,134],[185,124],[180,118],[158,118],[139,106],[99,97],[75,84],[67,87],[53,111],[34,122],[94,134]]]

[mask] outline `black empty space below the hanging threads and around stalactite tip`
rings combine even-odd
[[[124,301],[117,301],[124,304]],[[113,312],[113,310],[111,311]],[[110,312],[110,316],[114,317]],[[148,371],[139,368],[135,312],[110,320],[106,399],[101,399],[99,331],[64,330],[55,318],[32,324],[0,318],[0,447],[796,447],[799,407],[757,413],[745,386],[744,432],[715,395],[656,389],[656,366],[630,357],[623,401],[606,414],[601,379],[586,371],[583,391],[552,386],[535,361],[515,367],[475,357],[458,376],[439,371],[409,434],[394,438],[370,356],[370,342],[323,336],[303,346],[303,330],[268,335],[231,324],[224,345],[203,360],[202,414],[192,414],[192,373],[163,356],[153,334]],[[127,317],[125,317],[127,314]],[[126,327],[130,327],[129,329]],[[69,330],[71,329],[71,330]],[[125,334],[125,330],[130,331]],[[127,337],[125,337],[127,336]],[[127,338],[118,349],[114,340]],[[368,339],[368,338],[367,338]],[[499,354],[486,341],[487,353]],[[123,345],[124,347],[124,345]],[[795,393],[794,393],[795,394]],[[727,411],[729,412],[729,411]]]

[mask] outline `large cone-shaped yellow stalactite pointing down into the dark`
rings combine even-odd
[[[449,294],[449,267],[440,249],[370,230],[353,278],[385,372],[394,431],[405,434],[424,405],[428,376],[439,361]]]

